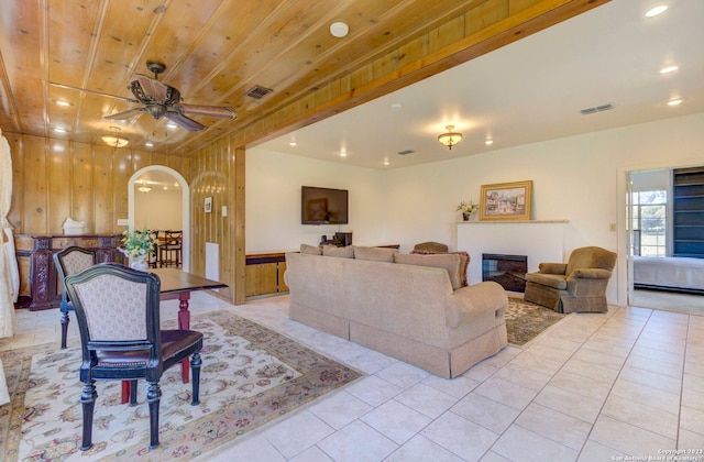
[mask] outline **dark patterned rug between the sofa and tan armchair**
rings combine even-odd
[[[522,298],[508,297],[505,314],[508,343],[524,345],[565,316]]]

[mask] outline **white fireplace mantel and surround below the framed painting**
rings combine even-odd
[[[543,262],[564,260],[564,230],[568,220],[460,221],[457,250],[470,254],[470,284],[482,282],[482,254],[528,256],[528,271]]]

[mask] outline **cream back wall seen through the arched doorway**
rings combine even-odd
[[[183,228],[182,190],[152,189],[134,191],[134,227],[138,230],[180,230]]]

